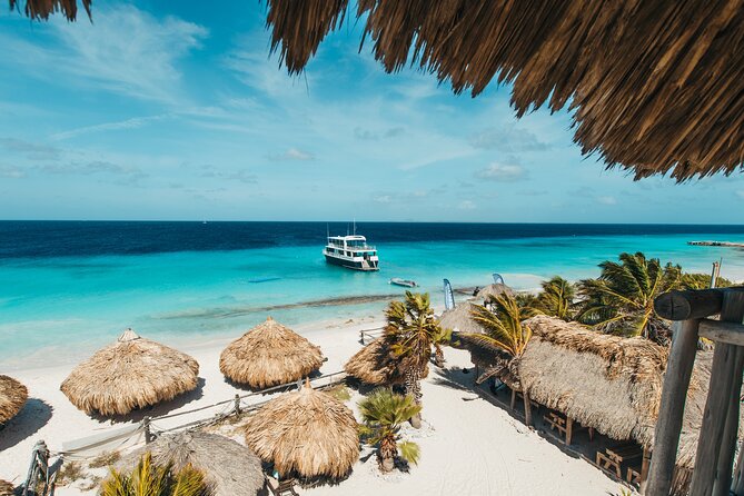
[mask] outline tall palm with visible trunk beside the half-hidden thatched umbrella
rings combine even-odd
[[[434,317],[428,294],[406,291],[405,301],[390,301],[386,317],[385,339],[399,359],[406,393],[420,405],[421,374],[431,358],[431,347],[440,343],[446,333]],[[410,420],[414,427],[420,427],[420,414]]]

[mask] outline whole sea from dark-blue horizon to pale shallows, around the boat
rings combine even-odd
[[[744,226],[359,222],[378,272],[325,262],[339,222],[0,221],[0,371],[75,363],[132,327],[168,343],[240,333],[267,315],[289,325],[380,315],[414,279],[443,305],[443,278],[517,289],[596,277],[597,264],[644,251],[688,271],[744,280]]]

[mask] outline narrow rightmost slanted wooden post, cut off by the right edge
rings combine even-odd
[[[734,383],[728,398],[728,411],[726,413],[726,425],[723,433],[723,443],[718,449],[718,466],[713,485],[714,496],[728,496],[732,486],[732,470],[734,455],[736,453],[736,440],[738,439],[738,409],[742,394],[742,373],[744,373],[744,348],[736,347],[736,359],[734,366]]]

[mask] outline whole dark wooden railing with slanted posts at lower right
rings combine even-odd
[[[654,308],[674,321],[674,339],[645,494],[667,496],[672,488],[697,340],[705,337],[715,341],[715,351],[690,494],[744,496],[744,456],[732,474],[744,373],[744,288],[672,291],[659,296]],[[710,318],[716,315],[718,320]]]

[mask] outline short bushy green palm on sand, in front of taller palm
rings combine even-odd
[[[400,440],[400,426],[420,413],[411,396],[396,395],[388,388],[374,390],[359,401],[359,413],[364,424],[359,426],[361,437],[370,446],[377,446],[377,460],[383,472],[390,472],[395,458],[416,464],[419,447],[416,443]]]

